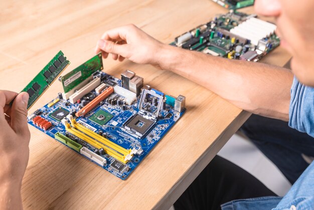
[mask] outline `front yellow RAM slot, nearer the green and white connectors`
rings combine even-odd
[[[90,138],[84,133],[77,131],[76,129],[72,128],[70,124],[66,124],[65,129],[69,133],[73,134],[74,136],[79,137],[80,139],[84,140],[85,142],[92,145],[93,147],[96,147],[97,149],[103,148],[105,153],[121,161],[122,163],[128,162],[128,160],[125,160],[125,156],[123,154],[119,154],[116,151],[112,150],[111,148],[108,148],[106,145],[100,144],[99,142],[95,141],[94,139]]]

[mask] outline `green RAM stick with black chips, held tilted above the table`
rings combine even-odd
[[[55,57],[22,90],[22,92],[28,92],[30,95],[27,105],[28,110],[69,64],[70,61],[64,57],[63,52],[58,52],[57,55],[55,55]]]

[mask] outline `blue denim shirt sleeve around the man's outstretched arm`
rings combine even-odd
[[[314,88],[295,77],[291,86],[289,126],[314,137]]]

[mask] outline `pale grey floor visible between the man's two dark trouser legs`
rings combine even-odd
[[[283,196],[291,187],[287,179],[250,141],[235,134],[218,155],[253,174],[269,189]],[[172,206],[169,210],[174,210]]]

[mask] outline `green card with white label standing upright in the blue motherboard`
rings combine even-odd
[[[102,69],[102,58],[101,53],[99,53],[73,71],[61,77],[64,92],[70,92],[78,84],[81,84],[82,81],[90,77],[94,72]]]

